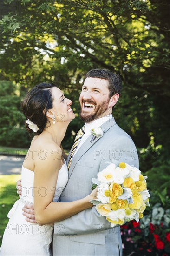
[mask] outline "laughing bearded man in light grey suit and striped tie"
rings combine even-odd
[[[109,70],[93,69],[86,74],[79,97],[85,133],[68,155],[69,180],[60,202],[88,195],[92,178],[97,178],[108,161],[126,162],[138,168],[137,150],[131,137],[118,127],[111,115],[121,88],[120,78]],[[95,137],[91,129],[98,127],[103,134]],[[95,207],[54,224],[53,256],[87,255],[122,255],[120,227],[111,228]]]

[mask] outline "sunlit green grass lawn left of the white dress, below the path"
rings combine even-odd
[[[6,225],[8,223],[7,214],[14,202],[19,199],[16,190],[16,181],[21,175],[1,175],[0,176],[0,245]]]

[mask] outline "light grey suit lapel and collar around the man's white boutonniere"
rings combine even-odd
[[[76,165],[76,163],[78,162],[78,160],[85,154],[85,152],[87,150],[89,150],[89,148],[92,147],[92,145],[94,145],[97,141],[99,141],[104,135],[105,135],[105,132],[107,132],[113,125],[115,125],[116,122],[114,120],[114,117],[111,118],[110,120],[106,121],[102,126],[101,128],[104,130],[104,134],[95,138],[94,141],[90,142],[92,140],[92,137],[93,135],[90,135],[86,141],[81,145],[81,147],[78,149],[78,152],[74,155],[73,159],[72,159],[72,163],[70,165],[70,168],[69,168],[69,178],[72,174],[72,171]],[[70,151],[71,153],[71,151]],[[70,153],[67,157],[67,159],[69,159],[69,156],[70,156]]]

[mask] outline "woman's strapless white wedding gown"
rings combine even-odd
[[[50,256],[53,225],[32,224],[26,222],[26,217],[22,215],[24,204],[33,203],[34,172],[22,167],[21,179],[22,196],[8,213],[9,222],[4,232],[0,256]],[[67,181],[68,170],[66,164],[63,164],[59,170],[53,202],[59,201]]]

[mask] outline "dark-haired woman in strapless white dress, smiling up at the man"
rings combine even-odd
[[[74,202],[58,202],[68,180],[61,141],[75,115],[72,101],[54,84],[41,83],[22,101],[26,129],[34,136],[22,166],[22,195],[8,213],[1,256],[52,255],[53,224],[91,208],[94,193]],[[28,223],[22,215],[26,203],[34,203],[38,224]]]

